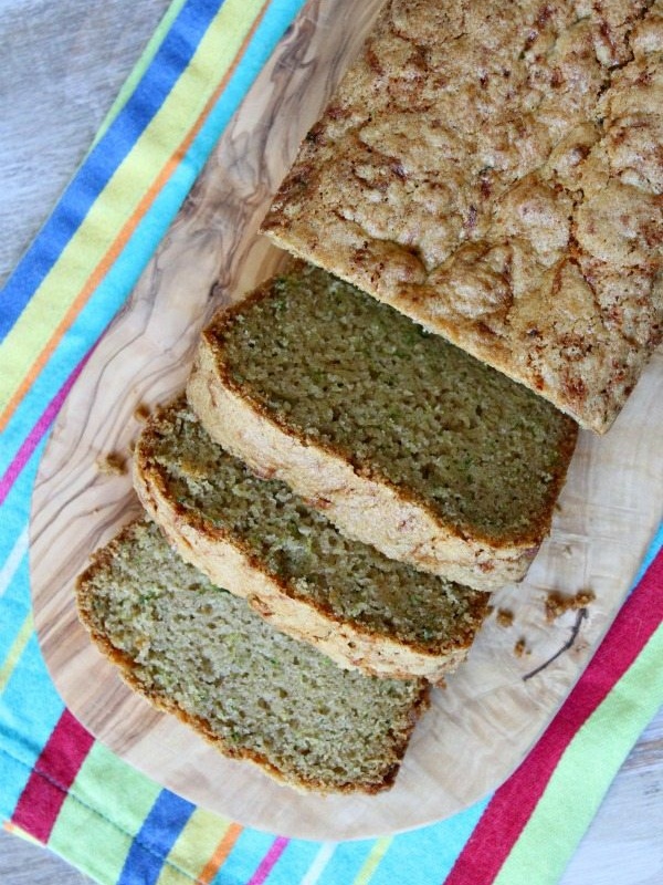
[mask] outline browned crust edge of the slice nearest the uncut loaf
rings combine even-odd
[[[297,266],[291,271],[293,284],[301,281],[302,287],[309,289],[312,299],[323,296],[325,277],[320,271]],[[355,454],[350,457],[333,442],[307,435],[234,379],[224,350],[228,329],[238,314],[246,312],[248,305],[274,295],[277,284],[278,281],[269,281],[246,301],[221,311],[202,333],[187,393],[210,436],[254,472],[288,483],[313,507],[323,510],[345,534],[375,545],[390,559],[488,592],[523,579],[549,532],[554,504],[576,446],[575,423],[557,413],[559,421],[552,423],[556,438],[544,444],[555,450],[557,458],[546,466],[549,481],[545,494],[540,492],[540,500],[535,501],[526,525],[520,524],[517,530],[491,530],[485,524],[454,521],[412,488],[390,481],[379,466],[359,464]],[[274,334],[278,335],[278,330]],[[330,336],[338,334],[338,330],[329,329]],[[315,358],[312,353],[311,362]],[[474,361],[469,357],[466,362]],[[480,368],[483,371],[483,366]],[[453,378],[445,381],[453,384]],[[398,392],[393,395],[398,396]],[[549,412],[554,409],[550,407]],[[440,434],[444,420],[442,409]],[[431,433],[435,433],[434,427]],[[497,429],[486,427],[485,434],[499,439],[513,434],[517,438],[515,428],[506,420]],[[530,481],[534,483],[535,472]],[[508,492],[505,482],[504,488],[497,483],[493,494]]]

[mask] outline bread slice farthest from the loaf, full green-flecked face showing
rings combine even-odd
[[[78,579],[80,616],[126,681],[224,756],[299,790],[393,783],[427,684],[344,670],[213,586],[146,520]]]

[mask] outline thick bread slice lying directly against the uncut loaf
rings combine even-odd
[[[188,397],[345,534],[485,591],[525,574],[577,438],[541,397],[303,263],[215,316]]]

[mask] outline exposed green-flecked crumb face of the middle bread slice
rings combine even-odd
[[[152,417],[139,454],[181,519],[232,543],[302,606],[432,655],[472,644],[486,593],[346,538],[285,483],[254,476],[213,442],[183,398]]]

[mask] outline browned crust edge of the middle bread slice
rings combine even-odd
[[[381,612],[383,610],[381,614],[367,617],[344,614],[344,605],[334,602],[335,596],[343,592],[336,589],[334,574],[328,574],[330,587],[316,597],[301,589],[301,580],[267,568],[234,525],[222,524],[199,507],[179,499],[172,471],[164,467],[161,452],[162,440],[173,434],[173,427],[182,415],[189,420],[187,416],[190,413],[175,403],[157,412],[146,425],[135,449],[134,485],[146,511],[186,562],[193,564],[213,584],[246,598],[274,627],[315,646],[344,667],[359,668],[377,676],[423,677],[438,683],[465,659],[488,613],[486,594],[427,576],[427,592],[433,594],[434,602],[430,610],[417,611],[418,632],[406,634],[404,628],[390,624],[391,618],[398,623],[397,606],[410,606],[408,600],[415,598],[415,592],[423,586],[423,579],[418,586],[413,570],[411,582],[403,590],[407,593],[403,602],[391,602],[390,594],[397,591],[383,586],[383,601],[380,598],[376,603]],[[219,447],[215,448],[221,452]],[[181,464],[181,472],[200,479],[202,483],[210,476],[208,469],[204,464]],[[262,480],[256,482],[264,486],[264,494],[273,493]],[[246,506],[261,507],[257,498]],[[350,543],[364,546],[359,542]],[[375,556],[383,560],[379,553]],[[383,565],[390,568],[388,561]],[[394,572],[397,566],[394,563]],[[394,586],[396,581],[394,577]],[[361,592],[362,589],[356,586],[352,598]],[[446,602],[446,594],[450,602]],[[348,603],[354,605],[352,600]]]

